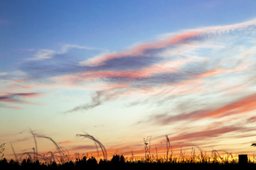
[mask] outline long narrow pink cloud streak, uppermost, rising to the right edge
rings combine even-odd
[[[236,23],[228,26],[214,26],[214,27],[208,27],[208,28],[186,30],[183,33],[177,33],[176,35],[165,35],[168,38],[164,38],[164,40],[156,40],[157,42],[135,45],[134,47],[132,47],[131,50],[127,52],[100,55],[98,57],[92,58],[91,60],[87,60],[84,63],[88,65],[98,66],[103,64],[105,61],[112,60],[114,58],[121,58],[125,56],[141,57],[143,52],[145,52],[146,50],[161,49],[169,45],[182,44],[184,40],[188,40],[189,38],[191,38],[191,40],[193,40],[193,38],[196,38],[196,37],[208,38],[210,35],[212,36],[212,35],[219,35],[220,33],[230,33],[230,31],[242,30],[242,29],[246,29],[249,26],[255,26],[255,25],[256,25],[256,19],[253,19],[251,21],[247,21],[244,23]]]

